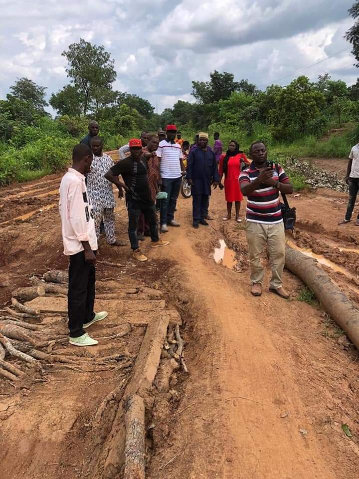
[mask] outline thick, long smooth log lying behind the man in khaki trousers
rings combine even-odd
[[[287,246],[285,265],[306,283],[322,307],[359,349],[359,311],[320,268],[318,262]]]

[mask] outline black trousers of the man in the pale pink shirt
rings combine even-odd
[[[85,252],[72,254],[67,293],[68,326],[71,338],[78,338],[85,334],[82,326],[92,321],[95,316],[95,282],[95,265],[85,262]]]

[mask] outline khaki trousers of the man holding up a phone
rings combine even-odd
[[[271,288],[282,286],[282,273],[285,257],[285,234],[283,222],[276,225],[264,225],[247,221],[248,253],[251,267],[250,279],[252,284],[263,285],[264,269],[261,264],[261,255],[264,246],[267,246],[272,277],[269,283]]]

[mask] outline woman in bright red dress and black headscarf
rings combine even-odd
[[[225,155],[221,156],[219,160],[219,188],[224,188],[225,199],[227,202],[227,216],[223,218],[223,221],[230,220],[232,217],[232,203],[235,203],[236,221],[241,223],[239,218],[240,202],[243,200],[243,195],[239,187],[239,175],[242,166],[250,165],[250,161],[245,154],[240,151],[239,145],[236,141],[232,140],[229,143],[228,151]],[[224,175],[224,186],[222,184],[222,178]]]

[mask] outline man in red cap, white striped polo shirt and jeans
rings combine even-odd
[[[160,218],[161,233],[168,232],[167,226],[180,226],[175,221],[177,198],[181,185],[183,165],[183,153],[180,145],[176,143],[176,125],[168,125],[166,128],[166,140],[159,144],[157,156],[160,159],[160,173],[162,178],[162,191],[167,193],[167,199],[161,200]]]

